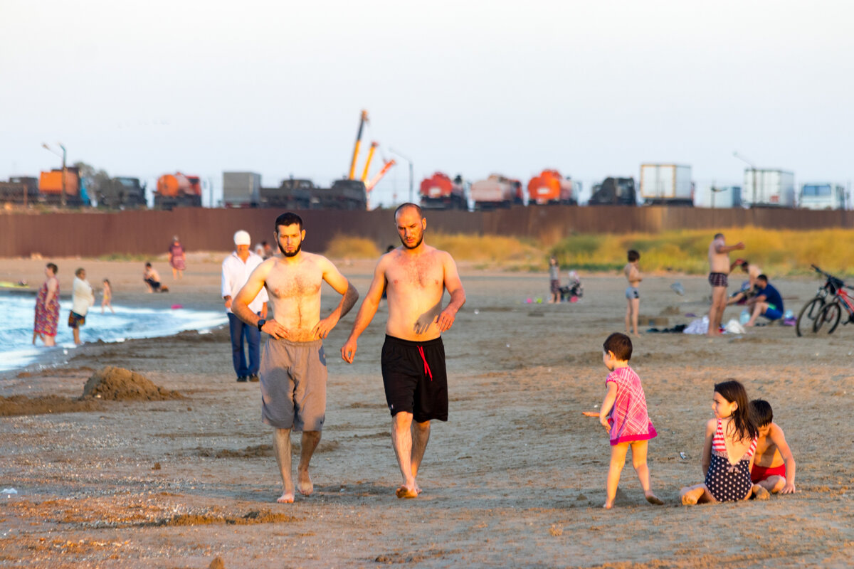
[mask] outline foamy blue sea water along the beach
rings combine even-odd
[[[33,296],[0,296],[0,370],[17,369],[56,350],[70,351],[74,345],[68,312],[71,300],[60,302],[56,348],[45,347],[42,340],[32,345],[32,324],[36,299]],[[133,338],[155,338],[178,334],[182,330],[207,332],[228,322],[225,312],[191,311],[184,308],[132,308],[113,305],[115,314],[93,306],[80,328],[83,342],[123,342]]]

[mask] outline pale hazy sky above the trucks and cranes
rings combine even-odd
[[[434,171],[586,189],[642,163],[741,183],[744,156],[851,183],[854,3],[0,0],[0,179],[67,148],[153,183],[265,186],[349,170],[361,109],[397,165],[374,205]],[[206,197],[206,202],[208,198]],[[216,197],[214,197],[216,200]]]

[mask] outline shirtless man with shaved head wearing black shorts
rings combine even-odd
[[[416,477],[430,439],[430,420],[447,421],[447,374],[442,332],[453,325],[465,291],[450,254],[424,243],[427,220],[421,208],[404,204],[395,211],[402,247],[380,258],[371,288],[359,309],[341,356],[353,363],[356,340],[388,294],[382,369],[386,403],[391,411],[391,441],[403,484],[399,498],[421,493]],[[451,301],[442,310],[445,290]]]

